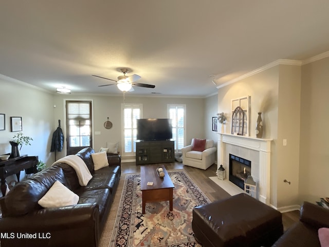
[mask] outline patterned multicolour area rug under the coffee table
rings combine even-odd
[[[113,246],[200,246],[192,231],[192,209],[210,200],[182,170],[168,171],[175,185],[169,201],[147,203],[142,215],[140,174],[126,175],[113,234]]]

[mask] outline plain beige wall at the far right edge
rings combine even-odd
[[[299,194],[329,197],[329,58],[302,66]]]

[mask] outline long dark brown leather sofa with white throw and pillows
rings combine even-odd
[[[59,163],[17,183],[0,199],[1,246],[98,246],[121,175],[121,157],[108,156],[108,167],[94,170],[94,150],[76,155],[93,178],[80,186],[75,170]],[[76,205],[43,208],[38,201],[55,181],[79,196]]]

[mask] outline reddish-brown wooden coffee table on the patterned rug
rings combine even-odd
[[[162,167],[165,177],[160,178],[157,168]],[[153,182],[153,185],[148,185]],[[169,209],[173,210],[173,188],[168,172],[163,165],[144,165],[140,167],[140,189],[142,191],[142,214],[145,214],[147,202],[169,201]]]

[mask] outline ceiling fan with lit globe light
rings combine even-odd
[[[128,73],[127,68],[121,68],[120,70],[123,73],[123,76],[118,76],[118,80],[113,80],[113,79],[96,76],[96,75],[93,75],[93,76],[99,77],[102,79],[106,79],[106,80],[110,80],[110,81],[115,81],[116,83],[99,85],[99,86],[117,85],[118,89],[121,90],[122,92],[130,91],[132,86],[150,87],[151,89],[154,89],[155,85],[135,82],[141,78],[139,75],[134,74],[132,76],[126,76],[125,74]]]

